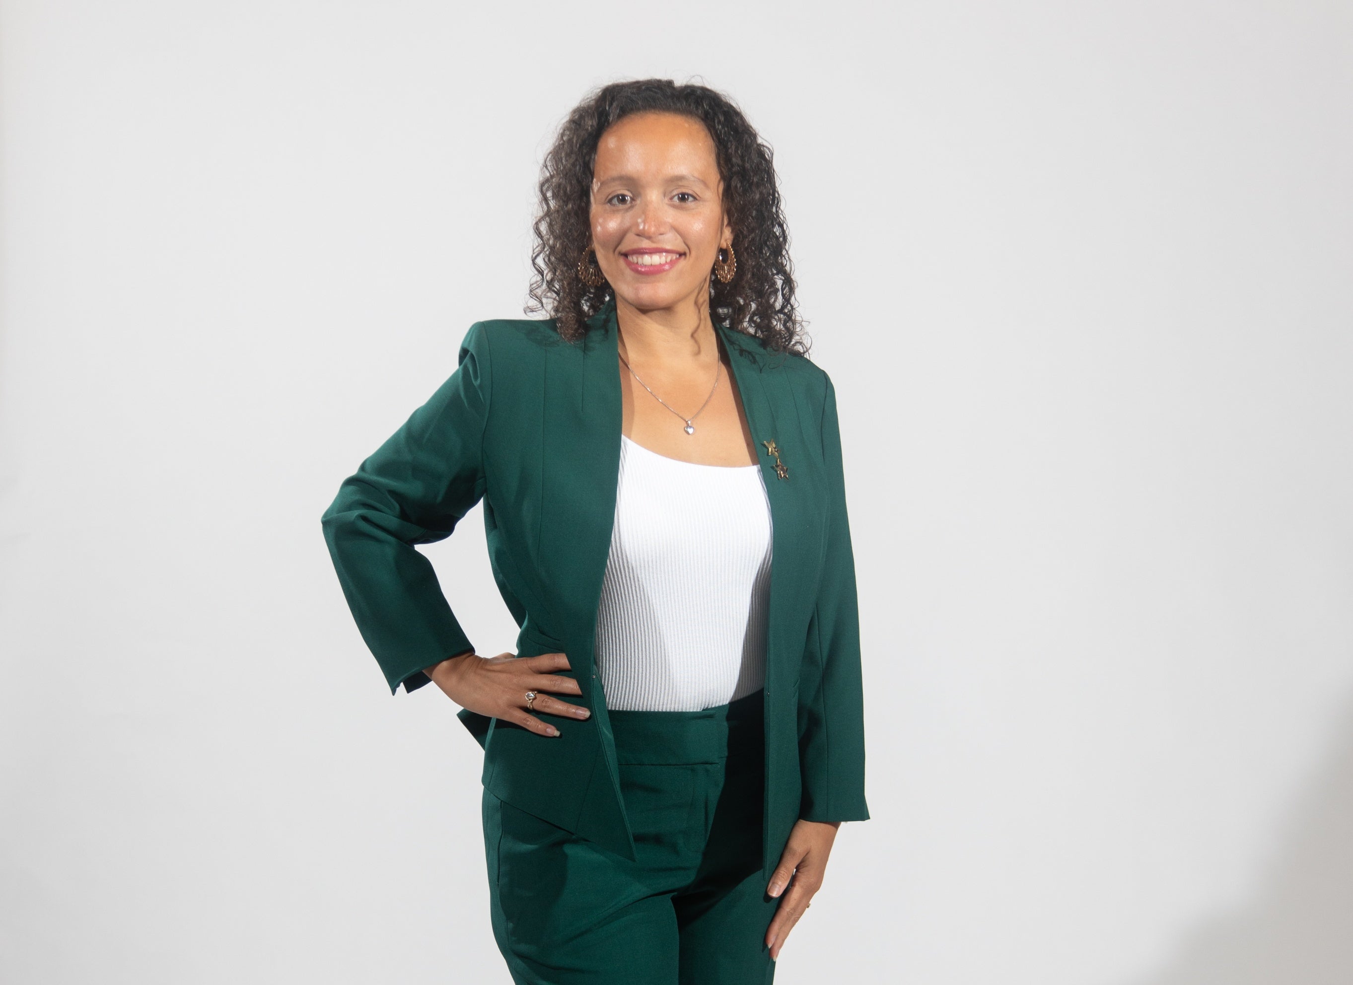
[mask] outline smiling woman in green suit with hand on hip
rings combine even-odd
[[[770,149],[708,88],[620,83],[540,192],[552,317],[472,326],[325,534],[391,691],[434,682],[484,748],[514,981],[771,981],[869,810],[836,403]],[[414,548],[480,499],[515,656]]]

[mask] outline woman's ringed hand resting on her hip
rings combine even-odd
[[[532,705],[537,712],[566,714],[570,718],[586,718],[591,714],[586,708],[545,694],[582,694],[576,681],[555,672],[560,670],[570,670],[568,658],[563,654],[460,654],[428,667],[423,674],[461,708],[510,721],[537,735],[555,736],[559,735],[557,728],[526,710],[526,691],[536,693]]]

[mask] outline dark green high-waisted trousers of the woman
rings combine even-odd
[[[762,701],[756,691],[702,712],[610,712],[637,862],[484,792],[494,936],[517,985],[774,978]]]

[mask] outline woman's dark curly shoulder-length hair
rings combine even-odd
[[[736,235],[737,268],[724,284],[710,277],[710,313],[777,352],[808,353],[794,300],[789,230],[770,146],[732,100],[704,85],[668,78],[612,83],[590,93],[559,127],[540,176],[533,223],[528,313],[545,313],[559,334],[580,340],[586,319],[613,296],[610,284],[589,287],[578,262],[591,245],[591,181],[597,145],[617,120],[636,112],[674,112],[700,120],[714,142],[724,210]]]

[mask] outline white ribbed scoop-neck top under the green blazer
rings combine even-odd
[[[760,465],[697,465],[622,436],[597,610],[606,706],[698,712],[760,687],[770,555]]]

